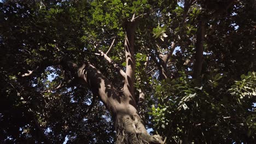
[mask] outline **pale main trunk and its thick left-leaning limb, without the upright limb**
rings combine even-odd
[[[89,86],[92,93],[100,97],[111,113],[117,131],[116,143],[162,143],[159,135],[151,136],[147,133],[134,103],[131,103],[133,98],[127,97],[124,89],[115,89],[109,80],[88,62],[78,69],[77,74],[80,82]]]

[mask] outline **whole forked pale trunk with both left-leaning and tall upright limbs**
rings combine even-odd
[[[88,85],[94,95],[98,95],[111,113],[117,131],[116,143],[163,143],[159,135],[149,135],[138,115],[135,99],[135,21],[125,23],[126,72],[124,87],[118,91],[112,83],[93,65],[86,62],[77,71],[79,80]]]

